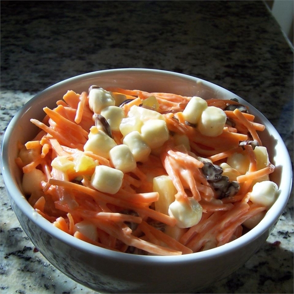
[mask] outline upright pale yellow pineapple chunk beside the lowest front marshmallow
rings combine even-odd
[[[158,192],[159,199],[155,202],[155,210],[169,215],[169,206],[175,200],[175,189],[172,179],[168,175],[153,178],[153,191]]]

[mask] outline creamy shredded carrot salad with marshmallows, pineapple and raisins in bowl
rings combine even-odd
[[[274,166],[237,99],[91,86],[44,108],[16,163],[32,207],[80,240],[179,255],[239,238],[277,196]]]

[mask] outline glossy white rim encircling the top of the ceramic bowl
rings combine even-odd
[[[122,69],[111,69],[111,70],[102,70],[102,71],[95,71],[90,73],[83,73],[83,74],[79,74],[79,75],[70,77],[68,79],[65,79],[63,81],[60,81],[58,83],[55,83],[49,86],[48,88],[46,88],[45,90],[39,92],[29,101],[27,101],[24,104],[24,106],[22,106],[18,110],[16,115],[12,118],[12,120],[8,124],[6,131],[4,133],[2,146],[1,146],[1,170],[2,170],[4,184],[5,184],[7,193],[9,197],[11,197],[13,201],[17,203],[18,207],[20,207],[22,212],[30,221],[33,221],[34,223],[36,223],[38,226],[41,227],[42,230],[44,230],[49,235],[61,240],[67,245],[73,246],[74,248],[80,251],[89,252],[95,255],[101,254],[105,258],[107,257],[107,258],[115,259],[115,260],[122,258],[124,261],[128,261],[130,263],[144,262],[148,264],[158,263],[158,262],[160,263],[183,263],[183,262],[189,263],[189,262],[195,262],[196,260],[212,259],[218,255],[222,255],[224,253],[229,253],[229,252],[238,250],[239,248],[245,246],[246,244],[251,243],[252,241],[257,239],[260,235],[268,231],[271,226],[275,225],[275,222],[278,220],[278,218],[280,217],[280,215],[282,214],[283,210],[285,209],[287,205],[287,202],[291,193],[291,189],[292,189],[293,172],[292,172],[291,159],[289,156],[289,152],[281,136],[279,135],[275,127],[268,121],[268,119],[262,113],[260,113],[254,106],[252,106],[251,104],[246,102],[243,98],[237,95],[235,96],[237,98],[240,98],[242,103],[245,102],[245,104],[250,106],[250,112],[253,111],[256,114],[258,114],[258,117],[262,119],[267,124],[267,126],[270,126],[270,129],[273,132],[274,137],[283,148],[285,156],[288,157],[285,164],[286,164],[286,169],[291,172],[291,175],[289,176],[289,187],[288,188],[286,187],[285,189],[283,189],[281,195],[278,197],[278,199],[274,203],[275,209],[271,211],[270,215],[266,215],[266,217],[256,227],[248,231],[245,235],[241,236],[240,238],[230,243],[221,245],[217,248],[213,248],[207,251],[186,254],[186,255],[177,255],[177,256],[133,255],[133,254],[116,252],[113,250],[101,248],[96,245],[92,245],[84,241],[81,241],[63,232],[62,230],[54,227],[49,221],[47,221],[41,215],[35,212],[34,209],[27,202],[25,196],[22,195],[21,190],[17,187],[17,183],[13,180],[13,175],[8,165],[9,157],[8,157],[8,152],[6,152],[6,150],[9,146],[9,141],[12,136],[14,126],[17,124],[18,120],[24,115],[27,109],[29,109],[35,103],[36,100],[38,100],[39,98],[42,98],[44,95],[47,95],[50,92],[55,92],[58,89],[66,86],[66,84],[68,83],[76,82],[86,78],[92,78],[97,75],[103,75],[103,74],[107,75],[111,73],[123,73],[123,74],[127,74],[127,73],[152,73],[153,74],[155,73],[155,74],[170,75],[173,77],[189,79],[195,82],[201,81],[203,84],[207,85],[209,88],[211,87],[214,89],[216,88],[220,90],[221,92],[235,95],[231,91],[224,89],[219,85],[203,80],[201,78],[197,78],[195,76],[191,76],[191,75],[187,75],[183,73],[174,73],[174,72],[164,71],[164,70],[142,69],[142,68],[122,68]]]

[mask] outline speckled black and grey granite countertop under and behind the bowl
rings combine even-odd
[[[277,128],[293,163],[293,50],[263,1],[1,1],[0,135],[51,84],[151,68],[229,89]],[[28,240],[0,175],[0,291],[87,293]],[[201,293],[293,293],[293,194],[267,242]]]

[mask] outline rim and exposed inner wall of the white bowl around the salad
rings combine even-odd
[[[242,246],[243,243],[253,241],[257,236],[263,234],[265,231],[275,224],[278,217],[284,210],[288,201],[291,183],[292,183],[292,167],[290,157],[283,143],[280,135],[272,126],[272,124],[252,105],[248,104],[244,99],[237,95],[214,85],[210,82],[198,79],[196,77],[187,76],[180,73],[171,73],[158,70],[145,70],[145,69],[121,69],[121,70],[108,70],[94,73],[87,73],[79,75],[68,80],[57,83],[48,89],[44,90],[34,98],[29,100],[25,106],[17,113],[7,127],[2,144],[2,172],[4,182],[7,190],[16,205],[21,207],[25,215],[32,221],[38,222],[42,229],[48,231],[50,234],[62,239],[64,242],[71,243],[74,246],[81,246],[87,250],[96,250],[103,254],[109,254],[107,249],[98,249],[94,245],[85,244],[72,236],[68,236],[59,229],[53,227],[48,221],[44,220],[41,216],[36,215],[33,208],[28,204],[25,197],[21,192],[21,172],[15,164],[15,158],[18,156],[17,142],[25,143],[31,140],[37,133],[38,129],[31,122],[30,119],[41,120],[44,118],[45,113],[43,107],[55,107],[55,102],[62,98],[68,90],[73,90],[76,93],[87,91],[89,86],[98,85],[100,87],[120,87],[125,89],[139,89],[148,92],[167,92],[175,93],[183,96],[200,96],[204,99],[209,98],[238,98],[241,103],[250,107],[250,113],[255,115],[256,122],[263,123],[266,130],[260,133],[261,140],[264,145],[268,147],[270,154],[270,161],[276,166],[276,170],[271,174],[271,179],[279,186],[279,198],[271,207],[266,217],[241,238],[214,248],[208,251],[194,253],[192,255],[199,258],[208,256],[213,253],[219,254],[222,250],[231,250],[234,246]],[[120,256],[124,253],[111,253],[112,257]],[[125,254],[124,254],[125,255]],[[128,254],[130,255],[130,254]],[[185,258],[183,258],[184,260]],[[128,258],[144,258],[134,257]],[[149,260],[161,257],[148,256]],[[174,256],[172,258],[178,258]],[[191,260],[191,256],[189,257]]]

